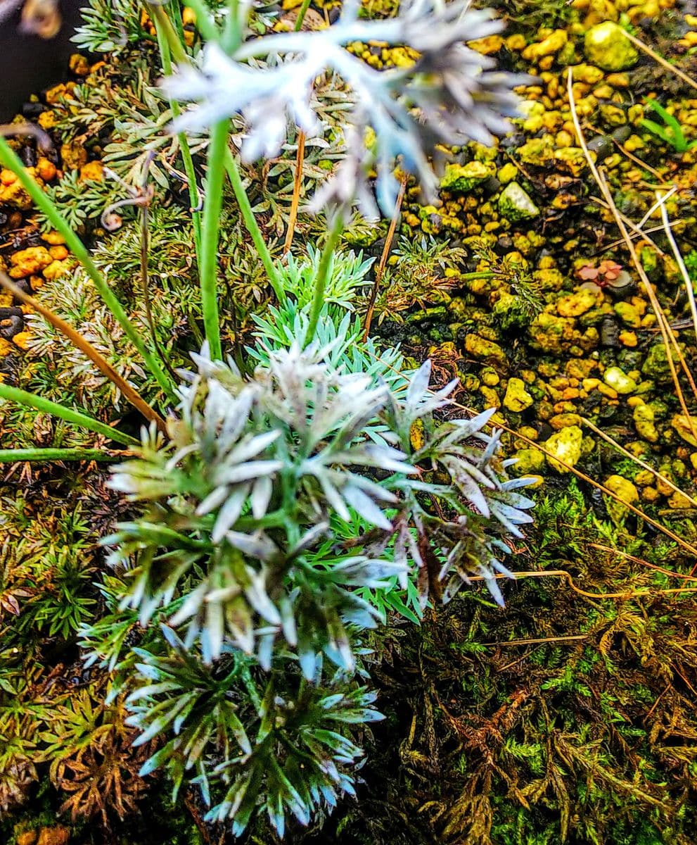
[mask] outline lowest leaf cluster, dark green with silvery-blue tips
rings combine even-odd
[[[331,811],[354,794],[351,768],[363,750],[352,733],[382,718],[375,692],[337,676],[306,684],[287,665],[254,678],[249,662],[230,654],[206,666],[166,625],[161,641],[134,652],[126,700],[134,745],[165,737],[140,774],[165,769],[176,795],[195,771],[208,822],[231,823],[240,836],[266,813],[282,837],[287,815],[307,825],[319,806]]]

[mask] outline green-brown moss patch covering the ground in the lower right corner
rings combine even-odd
[[[310,842],[693,845],[697,610],[608,547],[683,574],[694,561],[599,519],[574,482],[537,510],[528,568],[590,595],[528,579],[504,586],[502,612],[468,592],[419,635],[388,634],[376,763]]]

